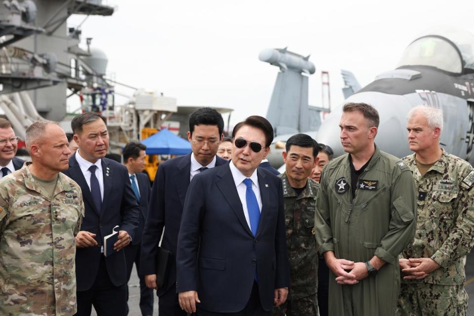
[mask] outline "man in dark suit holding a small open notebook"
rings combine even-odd
[[[64,173],[81,190],[85,216],[76,237],[76,277],[79,316],[126,315],[127,271],[123,247],[133,240],[140,212],[127,168],[104,158],[109,148],[105,118],[86,112],[71,127],[78,151]],[[119,226],[115,253],[105,257],[103,238]]]

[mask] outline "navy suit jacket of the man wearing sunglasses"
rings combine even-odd
[[[257,168],[262,210],[254,237],[229,165],[190,184],[178,236],[177,292],[196,290],[198,306],[236,313],[248,302],[257,271],[260,302],[273,307],[276,288],[289,286],[281,179]]]

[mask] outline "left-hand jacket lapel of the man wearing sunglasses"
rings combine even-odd
[[[236,213],[236,216],[245,231],[247,231],[247,233],[253,237],[253,234],[248,227],[247,220],[245,219],[245,215],[243,214],[242,203],[238,197],[236,184],[234,182],[234,178],[232,177],[230,166],[227,165],[221,168],[217,176],[220,177],[220,179],[217,180],[217,187],[222,192],[222,195],[226,198],[234,213]]]

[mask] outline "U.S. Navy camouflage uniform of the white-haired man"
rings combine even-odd
[[[474,168],[447,154],[422,177],[415,154],[403,158],[418,189],[415,238],[401,257],[431,258],[441,267],[421,280],[401,280],[399,315],[466,315],[466,255],[473,247]]]

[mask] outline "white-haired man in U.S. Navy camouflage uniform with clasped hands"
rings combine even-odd
[[[408,114],[415,154],[403,161],[418,189],[418,221],[414,240],[399,259],[398,315],[466,315],[464,264],[473,247],[474,168],[439,148],[442,126],[440,109],[422,106]]]

